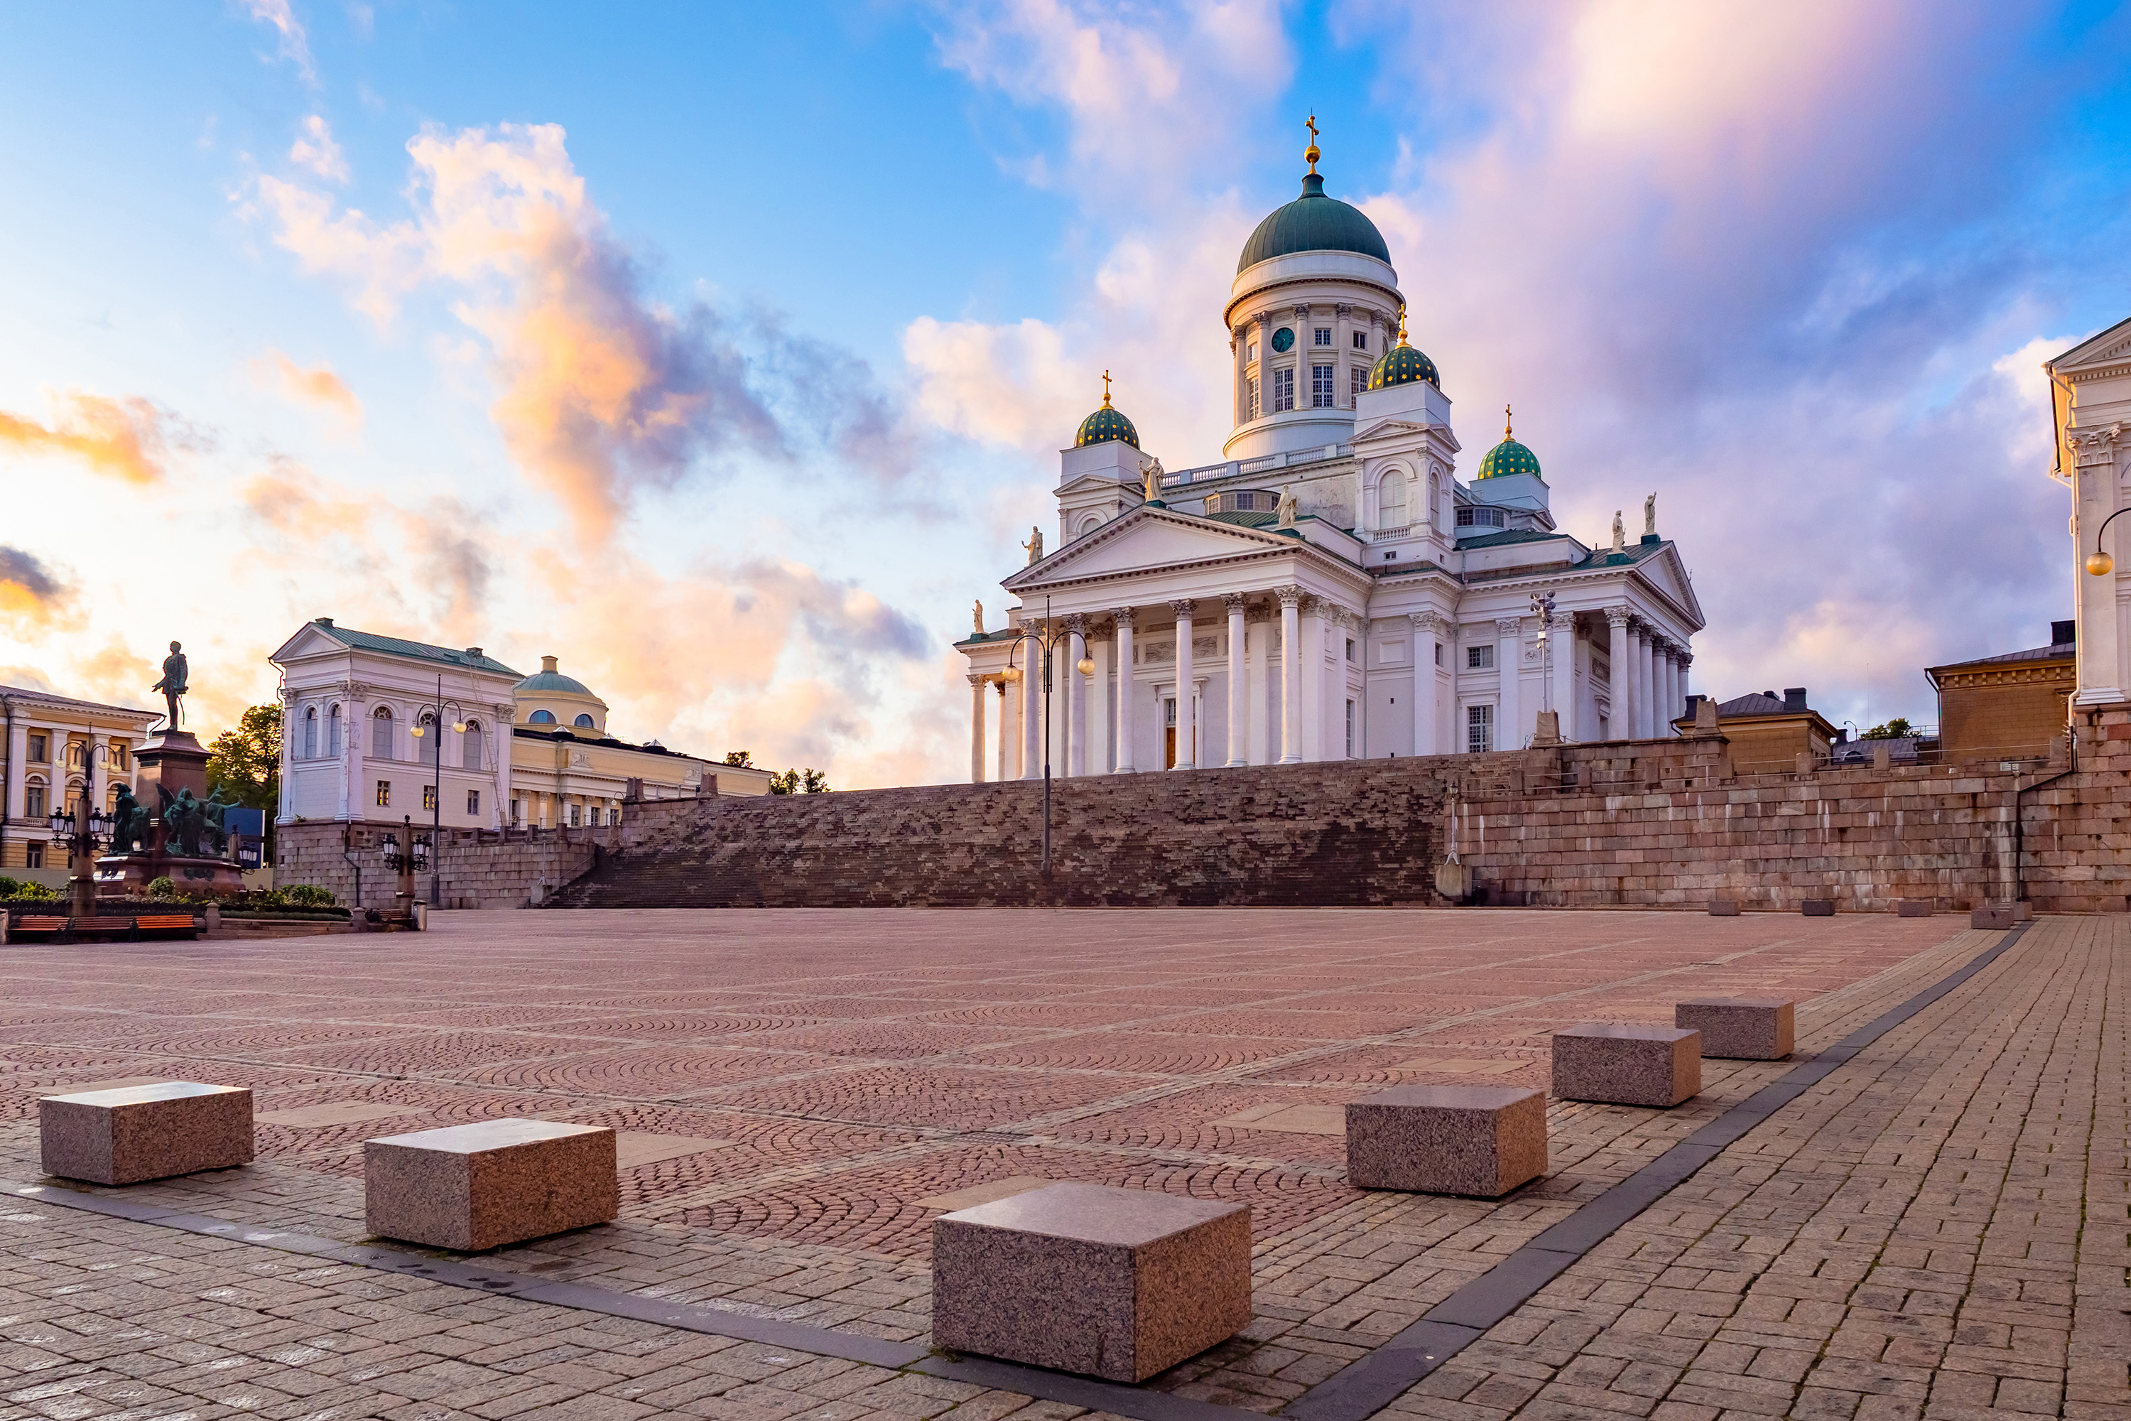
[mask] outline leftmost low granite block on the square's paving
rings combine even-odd
[[[251,1163],[251,1091],[160,1080],[36,1101],[45,1174],[139,1185]]]

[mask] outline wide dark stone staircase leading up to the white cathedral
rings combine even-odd
[[[1475,769],[1464,756],[1462,773]],[[658,805],[554,908],[1434,903],[1447,763],[1347,761]]]

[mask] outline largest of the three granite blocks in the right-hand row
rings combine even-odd
[[[1524,1087],[1392,1087],[1347,1106],[1355,1189],[1498,1199],[1547,1172],[1547,1095]]]

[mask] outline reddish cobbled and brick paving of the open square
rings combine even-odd
[[[0,1176],[36,1178],[36,1093],[132,1074],[254,1084],[269,1114],[384,1101],[733,1140],[633,1170],[609,1229],[482,1263],[918,1342],[929,1195],[1034,1174],[1245,1197],[1259,1317],[1155,1385],[1274,1410],[1784,1067],[1709,1063],[1662,1114],[1556,1104],[1556,1172],[1502,1204],[1351,1191],[1336,1138],[1219,1121],[1475,1069],[1539,1084],[1547,1027],[1711,991],[1809,997],[1816,1050],[1999,937],[1677,914],[448,922],[328,940],[330,976],[290,944],[9,950],[0,1106],[23,1123],[0,1127]],[[1392,1410],[2131,1417],[2122,933],[2037,925]],[[1046,950],[1002,963],[1002,940]],[[931,1035],[972,1025],[997,1033]],[[680,1104],[635,1093],[661,1061]],[[752,1074],[720,1080],[735,1065]],[[1038,1108],[1004,1114],[991,1074]],[[420,1125],[269,1127],[251,1170],[121,1193],[354,1240],[360,1138]],[[1076,1415],[49,1204],[0,1208],[0,1417]]]

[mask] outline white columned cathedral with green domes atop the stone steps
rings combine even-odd
[[[1057,550],[1031,533],[1006,628],[978,611],[957,643],[972,780],[1647,739],[1683,714],[1703,614],[1654,505],[1639,541],[1615,518],[1611,548],[1579,543],[1507,426],[1460,479],[1392,251],[1306,158],[1221,313],[1221,462],[1164,471],[1106,379],[1061,452]]]

